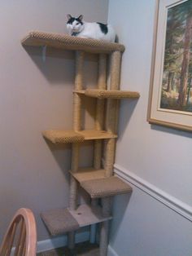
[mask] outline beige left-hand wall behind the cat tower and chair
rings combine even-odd
[[[70,145],[53,146],[41,130],[72,127],[74,55],[25,49],[20,39],[29,30],[66,33],[67,13],[107,21],[107,0],[0,1],[0,232],[15,210],[31,208],[38,241],[48,235],[42,210],[68,206]],[[89,56],[86,83],[96,81],[96,60]],[[89,104],[89,103],[88,103]],[[88,118],[87,125],[91,125]],[[89,144],[82,151],[90,164]],[[86,157],[85,157],[86,155]]]

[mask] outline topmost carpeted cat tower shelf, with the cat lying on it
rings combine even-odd
[[[89,38],[72,37],[64,33],[31,31],[22,40],[23,46],[51,46],[65,50],[107,53],[124,51],[124,46],[115,42],[105,42]]]

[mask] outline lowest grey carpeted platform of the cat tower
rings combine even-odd
[[[52,236],[75,231],[94,223],[101,223],[112,217],[103,217],[99,206],[80,205],[76,210],[55,209],[41,213],[41,218]]]

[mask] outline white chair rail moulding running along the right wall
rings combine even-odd
[[[181,214],[181,216],[184,218],[192,221],[192,207],[190,205],[185,204],[176,197],[171,196],[153,184],[148,183],[145,179],[138,177],[136,174],[133,174],[133,172],[125,169],[122,166],[116,164],[114,169],[115,174],[120,176],[120,178],[132,183],[137,188],[140,188],[143,192],[146,192],[148,195],[152,196],[164,205],[167,205],[170,209],[174,210],[178,214]]]

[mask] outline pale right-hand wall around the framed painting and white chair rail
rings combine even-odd
[[[192,134],[146,121],[155,2],[109,1],[108,21],[126,48],[121,89],[141,93],[120,108],[115,170],[133,193],[115,199],[114,256],[192,255]]]

